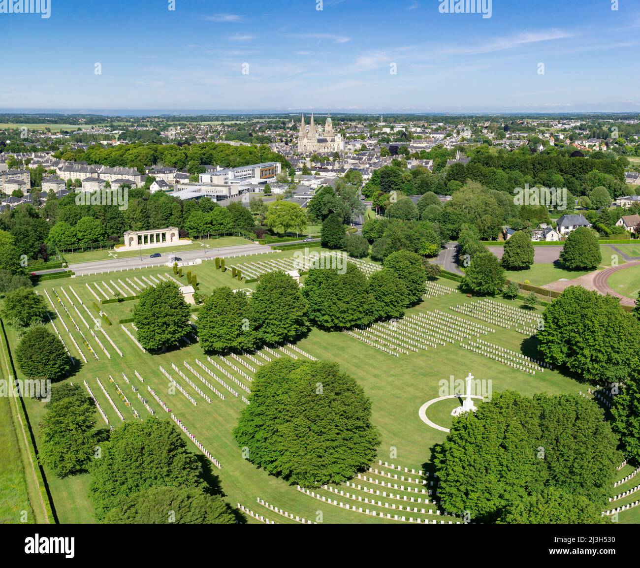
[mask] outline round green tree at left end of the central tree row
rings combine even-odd
[[[189,304],[173,282],[162,282],[147,288],[133,309],[133,321],[138,328],[138,341],[149,351],[175,345],[191,332]]]

